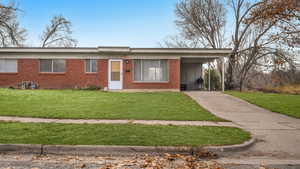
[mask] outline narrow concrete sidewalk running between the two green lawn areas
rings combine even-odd
[[[0,116],[0,121],[22,123],[64,123],[64,124],[146,124],[146,125],[191,125],[239,127],[231,122],[213,121],[167,121],[167,120],[86,120],[86,119],[47,119],[30,117]]]

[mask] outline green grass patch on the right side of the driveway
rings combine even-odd
[[[226,93],[273,112],[300,118],[300,95],[236,91]]]

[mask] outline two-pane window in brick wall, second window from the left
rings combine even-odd
[[[41,59],[40,72],[65,72],[66,61],[63,59]]]

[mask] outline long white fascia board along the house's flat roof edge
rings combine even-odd
[[[219,58],[228,56],[231,49],[180,48],[0,48],[0,57],[16,58]]]

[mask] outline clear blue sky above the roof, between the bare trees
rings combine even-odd
[[[27,44],[39,37],[54,15],[73,23],[78,46],[157,47],[176,33],[174,8],[178,0],[16,0]]]

